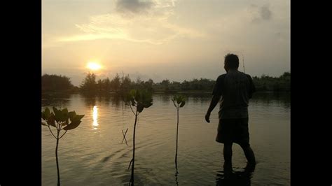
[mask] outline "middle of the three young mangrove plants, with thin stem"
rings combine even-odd
[[[152,106],[152,94],[147,90],[130,90],[130,92],[125,96],[125,102],[130,105],[130,109],[135,115],[134,134],[132,137],[132,160],[130,161],[130,164],[132,165],[132,175],[129,182],[130,185],[134,185],[135,132],[137,118],[139,113],[141,113],[144,108],[149,108],[150,106]],[[136,107],[136,110],[134,110],[132,107]],[[128,166],[128,169],[130,168],[130,164]]]

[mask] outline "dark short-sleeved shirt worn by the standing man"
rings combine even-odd
[[[256,91],[248,74],[228,71],[216,79],[214,96],[221,96],[219,119],[248,117],[248,103]]]

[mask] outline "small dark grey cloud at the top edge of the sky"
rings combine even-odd
[[[145,13],[154,5],[153,1],[118,0],[116,1],[116,10],[120,13]]]

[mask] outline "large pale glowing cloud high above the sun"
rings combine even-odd
[[[147,1],[126,0],[117,3],[126,7],[130,13],[139,13],[151,8]],[[171,23],[169,18],[174,14],[174,6],[174,0],[155,0],[153,8],[144,14],[139,13],[131,17],[123,16],[122,13],[94,15],[90,17],[90,22],[75,25],[81,31],[80,34],[62,36],[57,41],[92,41],[106,38],[160,45],[178,37],[205,37],[200,31]]]

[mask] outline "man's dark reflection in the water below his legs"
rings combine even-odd
[[[216,172],[216,185],[251,185],[254,170],[255,166],[250,164],[247,164],[243,171],[233,171],[232,167],[225,167],[223,170]]]

